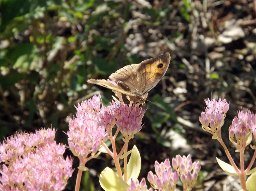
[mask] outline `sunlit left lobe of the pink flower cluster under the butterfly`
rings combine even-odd
[[[107,110],[104,108],[101,112],[100,104],[100,95],[94,95],[88,102],[78,104],[76,117],[69,120],[69,149],[79,158],[81,164],[87,161],[88,155],[94,156],[108,138],[105,126],[100,120],[104,119],[100,115],[105,115]]]

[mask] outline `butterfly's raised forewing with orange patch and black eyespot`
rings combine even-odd
[[[138,90],[146,94],[165,75],[171,61],[170,54],[163,54],[155,58],[142,61],[137,68]]]

